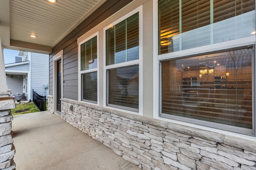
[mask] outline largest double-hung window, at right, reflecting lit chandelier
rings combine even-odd
[[[255,136],[255,0],[158,0],[160,117]]]

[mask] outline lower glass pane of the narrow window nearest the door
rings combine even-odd
[[[82,74],[82,100],[97,102],[97,72]]]

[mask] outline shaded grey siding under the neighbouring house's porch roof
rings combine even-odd
[[[20,75],[8,75],[6,76],[6,83],[8,86],[8,89],[12,90],[12,94],[20,93],[22,94],[23,88],[22,88],[22,82],[23,82],[23,76]]]

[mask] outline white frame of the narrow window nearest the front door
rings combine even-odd
[[[80,45],[85,43],[86,41],[92,39],[95,36],[97,36],[97,68],[81,71]],[[100,101],[99,101],[100,100],[100,95],[99,95],[100,86],[99,86],[99,69],[98,68],[99,68],[99,32],[97,31],[96,33],[88,36],[86,39],[84,39],[83,41],[78,43],[78,100],[79,100],[79,102],[99,106],[99,103],[100,103]],[[82,100],[82,84],[81,84],[82,83],[82,78],[81,78],[81,76],[84,73],[95,72],[95,71],[97,71],[97,103],[89,102],[89,101],[83,101]]]

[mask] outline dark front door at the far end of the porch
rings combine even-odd
[[[61,60],[57,61],[57,111],[61,112]]]

